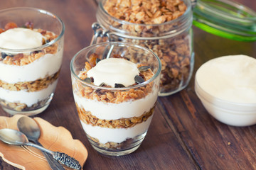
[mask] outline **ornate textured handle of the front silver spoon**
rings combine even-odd
[[[32,142],[27,142],[26,145],[31,147],[36,147],[37,149],[40,149],[43,152],[46,152],[48,154],[51,154],[55,160],[60,162],[61,164],[65,164],[66,166],[73,168],[73,169],[81,169],[82,166],[80,166],[78,160],[76,160],[73,157],[68,156],[68,154],[62,153],[62,152],[53,152],[49,149],[46,149],[44,147],[41,147],[39,145],[36,145]]]

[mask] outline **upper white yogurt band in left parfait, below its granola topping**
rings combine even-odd
[[[60,69],[63,57],[63,48],[54,55],[46,54],[38,60],[26,65],[17,66],[0,62],[0,80],[9,84],[35,81],[55,74]]]

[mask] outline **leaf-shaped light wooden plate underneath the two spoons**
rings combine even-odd
[[[22,115],[14,115],[11,118],[0,116],[0,129],[11,128],[18,130],[17,121]],[[87,159],[87,149],[82,142],[74,140],[68,130],[63,127],[55,127],[41,118],[34,118],[41,129],[39,142],[46,149],[64,152],[77,159],[81,165]],[[43,153],[33,147],[8,145],[0,141],[0,156],[5,162],[19,169],[50,169]],[[65,169],[69,169],[64,166]]]

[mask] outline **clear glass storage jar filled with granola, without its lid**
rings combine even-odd
[[[161,60],[159,96],[181,91],[193,72],[191,1],[101,1],[97,22],[111,41],[132,42]],[[103,39],[106,40],[106,39]]]

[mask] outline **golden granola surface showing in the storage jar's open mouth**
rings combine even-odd
[[[107,0],[104,8],[120,20],[145,24],[172,21],[186,11],[181,0]]]

